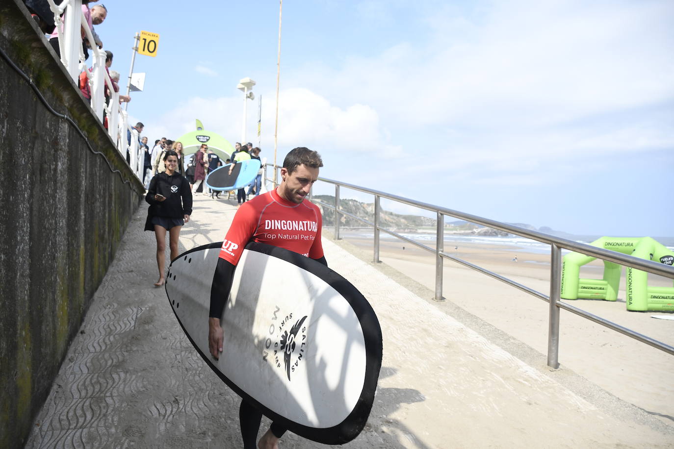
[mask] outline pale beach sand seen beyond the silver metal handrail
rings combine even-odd
[[[346,236],[344,240],[358,248],[369,261],[372,260],[371,238]],[[459,246],[458,250],[454,249],[456,245]],[[445,251],[549,295],[549,254],[526,252],[526,248],[518,250],[510,245],[451,241],[445,242]],[[512,260],[515,256],[518,258],[517,262]],[[430,289],[426,296],[432,301],[432,292],[435,291],[434,254],[406,242],[382,239],[379,258],[382,263]],[[602,270],[603,263],[594,261],[583,267],[580,275],[601,279]],[[546,368],[549,313],[547,302],[453,261],[444,261],[443,272],[443,296],[446,302],[433,301],[434,304],[448,313],[451,313],[448,307],[454,304],[528,345],[541,353],[539,359],[534,357],[529,362],[539,368]],[[674,345],[674,320],[652,318],[652,315],[674,317],[674,314],[627,312],[624,279],[623,271],[617,302],[565,302],[668,345]],[[663,287],[673,286],[671,279],[654,275],[649,275],[648,283]],[[559,329],[561,370],[572,370],[623,401],[644,409],[669,425],[674,424],[674,356],[565,310],[561,310]]]

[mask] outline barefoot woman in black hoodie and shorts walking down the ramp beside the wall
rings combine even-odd
[[[189,182],[178,171],[178,155],[173,150],[164,155],[166,171],[158,173],[150,181],[145,201],[150,204],[146,231],[154,231],[157,239],[157,266],[159,280],[154,283],[161,287],[166,281],[164,275],[164,252],[166,250],[166,231],[171,248],[171,260],[178,256],[178,238],[180,229],[189,221],[192,214],[192,192]]]

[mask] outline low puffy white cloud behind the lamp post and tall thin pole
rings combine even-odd
[[[264,98],[274,98],[263,93]],[[242,97],[190,98],[167,110],[158,123],[146,124],[146,132],[175,139],[195,129],[199,118],[204,127],[220,133],[231,142],[241,140],[243,120]],[[274,145],[274,100],[262,108],[262,148],[270,157]],[[379,116],[373,108],[352,104],[339,108],[326,98],[306,89],[282,90],[279,95],[278,148],[287,151],[307,146],[334,156],[375,154],[378,157],[397,156],[400,147],[392,145],[386,130],[381,129]],[[246,141],[257,144],[257,100],[247,106]]]

